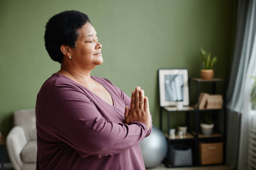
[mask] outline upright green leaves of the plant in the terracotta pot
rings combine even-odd
[[[202,57],[202,64],[205,70],[212,69],[213,64],[218,60],[216,56],[211,58],[211,53],[206,52],[202,47],[200,56]]]

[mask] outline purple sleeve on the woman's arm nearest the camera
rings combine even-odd
[[[67,143],[83,158],[114,155],[137,145],[147,133],[142,122],[105,120],[82,90],[63,84],[55,87],[44,106],[49,133]]]

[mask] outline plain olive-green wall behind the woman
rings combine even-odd
[[[199,77],[203,46],[218,56],[215,76],[229,77],[232,0],[1,0],[0,131],[5,136],[13,127],[13,111],[34,108],[41,85],[60,69],[46,52],[43,37],[49,18],[64,10],[86,13],[103,45],[104,62],[91,75],[108,78],[129,96],[141,86],[155,127],[158,69],[187,68],[189,77]],[[180,122],[184,113],[175,113],[171,126]]]

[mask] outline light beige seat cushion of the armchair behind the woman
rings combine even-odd
[[[28,142],[20,153],[23,163],[36,163],[37,144],[36,140]]]

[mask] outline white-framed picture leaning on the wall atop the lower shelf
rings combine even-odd
[[[160,106],[175,106],[176,101],[189,105],[187,69],[159,69]]]

